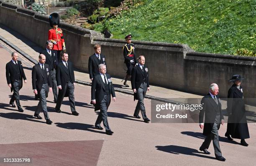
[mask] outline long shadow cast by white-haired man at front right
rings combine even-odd
[[[196,149],[187,148],[187,147],[183,147],[183,146],[168,145],[168,146],[156,146],[156,148],[159,151],[164,151],[164,152],[172,153],[172,154],[185,154],[185,155],[189,155],[189,156],[197,156],[197,157],[203,157],[203,158],[216,159],[215,157],[212,157],[212,156],[202,155],[202,152],[197,151]]]

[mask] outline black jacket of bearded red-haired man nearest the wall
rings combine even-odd
[[[100,71],[99,71],[100,64],[104,64],[107,67],[105,55],[100,54],[100,63],[95,53],[89,57],[88,70],[89,70],[90,79],[92,79],[95,75],[100,74]]]

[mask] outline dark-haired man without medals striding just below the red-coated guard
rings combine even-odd
[[[57,113],[61,113],[60,107],[64,97],[69,97],[70,108],[72,115],[78,116],[79,113],[75,108],[74,100],[74,68],[73,64],[68,61],[69,55],[65,52],[61,53],[61,62],[57,66],[57,86],[59,88],[59,94],[55,110]]]

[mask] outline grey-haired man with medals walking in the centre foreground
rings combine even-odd
[[[92,80],[92,104],[95,104],[95,110],[100,110],[98,118],[95,122],[95,127],[99,130],[103,130],[100,123],[103,121],[103,125],[106,129],[106,134],[112,135],[114,132],[111,131],[108,125],[108,106],[110,105],[110,94],[115,101],[115,90],[113,87],[112,79],[109,74],[106,74],[106,65],[99,65],[100,74],[95,75]]]

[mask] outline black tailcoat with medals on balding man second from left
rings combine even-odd
[[[44,64],[44,72],[47,75],[48,86],[51,88],[52,87],[51,70],[50,70],[48,64]],[[40,91],[43,87],[43,84],[44,84],[44,73],[40,67],[40,64],[38,63],[38,64],[34,65],[33,69],[32,69],[32,87],[33,87],[33,89],[37,90],[36,97],[38,97],[38,98],[39,98]],[[46,97],[47,96],[48,96],[48,94],[46,94]]]

